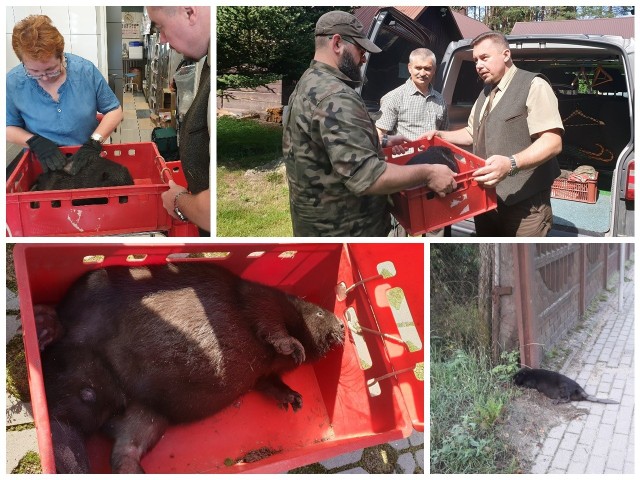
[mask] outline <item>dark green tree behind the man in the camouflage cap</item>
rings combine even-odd
[[[299,78],[314,53],[318,18],[335,7],[218,7],[218,95]],[[338,7],[351,11],[351,8]]]

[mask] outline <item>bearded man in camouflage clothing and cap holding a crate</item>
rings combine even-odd
[[[367,108],[354,88],[366,52],[380,49],[351,14],[334,11],[316,24],[316,52],[289,99],[283,152],[295,236],[386,236],[386,195],[426,184],[455,189],[443,165],[387,164]],[[388,145],[406,141],[390,136]]]

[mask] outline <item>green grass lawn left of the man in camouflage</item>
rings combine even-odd
[[[282,157],[282,127],[220,117],[216,128],[217,236],[291,236],[284,167],[254,170]]]

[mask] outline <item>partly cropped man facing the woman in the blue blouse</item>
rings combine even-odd
[[[207,57],[200,72],[198,91],[180,126],[180,160],[189,189],[172,180],[162,194],[165,209],[174,218],[189,220],[201,236],[211,230],[211,194],[209,190],[209,94],[211,7],[147,7],[149,18],[160,31],[160,42],[185,57]]]

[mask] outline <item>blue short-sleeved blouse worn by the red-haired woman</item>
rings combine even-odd
[[[64,54],[67,78],[53,100],[37,80],[27,78],[22,64],[7,74],[7,126],[21,127],[58,145],[80,145],[98,126],[96,113],[120,106],[96,66],[89,60]]]

